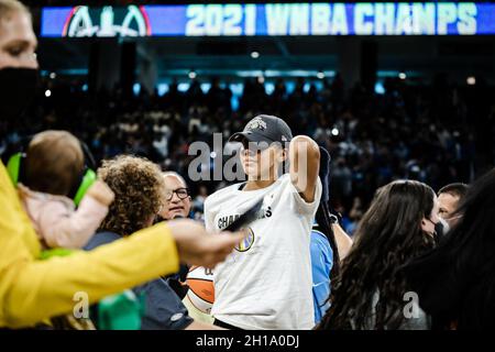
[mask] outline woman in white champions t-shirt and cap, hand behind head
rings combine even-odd
[[[263,198],[248,237],[215,270],[216,324],[239,329],[311,329],[314,301],[310,232],[321,197],[320,151],[293,139],[279,118],[258,116],[231,142],[241,142],[248,182],[206,199],[205,220],[220,231]],[[279,175],[289,163],[289,173]]]

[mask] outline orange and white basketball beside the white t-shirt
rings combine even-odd
[[[210,314],[215,301],[213,273],[202,266],[193,266],[186,279],[189,290],[187,297],[200,311]]]

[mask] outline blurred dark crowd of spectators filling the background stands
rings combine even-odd
[[[421,86],[388,79],[384,95],[360,85],[344,89],[339,75],[324,80],[319,90],[300,78],[290,92],[278,79],[271,95],[264,84],[248,79],[237,110],[231,106],[232,92],[218,78],[208,91],[195,79],[187,91],[170,84],[163,96],[144,90],[131,97],[121,90],[94,95],[81,87],[74,79],[46,77],[36,108],[25,120],[1,123],[0,151],[35,131],[63,129],[84,140],[98,161],[131,153],[187,179],[193,142],[212,145],[212,134],[221,133],[226,143],[251,118],[268,112],[282,117],[295,134],[309,135],[330,152],[332,206],[345,216],[350,232],[377,187],[405,177],[433,189],[469,182],[486,169],[494,155],[495,106],[486,94],[479,94],[490,88],[457,87],[441,75]],[[218,180],[195,184],[198,218],[205,193],[223,186]]]

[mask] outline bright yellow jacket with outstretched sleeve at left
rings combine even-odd
[[[178,271],[177,249],[165,223],[91,252],[38,261],[40,251],[0,162],[0,328],[30,327],[72,312],[78,293],[86,293],[92,304]]]

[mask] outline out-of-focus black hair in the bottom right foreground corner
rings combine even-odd
[[[436,328],[494,328],[495,168],[461,201],[459,222],[439,246],[405,267],[419,305]]]

